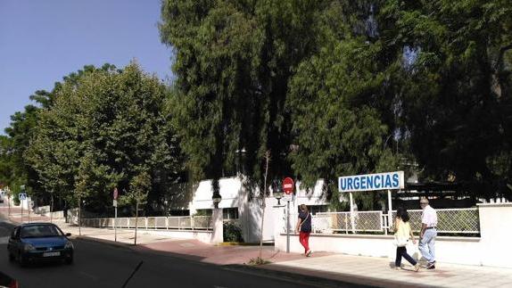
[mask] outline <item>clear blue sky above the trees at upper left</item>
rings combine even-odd
[[[168,81],[160,8],[161,0],[0,0],[0,134],[36,90],[87,64],[136,59]]]

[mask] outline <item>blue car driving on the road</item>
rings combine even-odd
[[[61,228],[51,223],[27,223],[12,230],[7,243],[9,260],[17,259],[22,267],[46,260],[73,263],[73,243]]]

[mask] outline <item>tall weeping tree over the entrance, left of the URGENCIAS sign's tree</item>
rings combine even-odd
[[[289,79],[315,49],[320,1],[164,1],[161,39],[175,52],[175,107],[182,147],[195,179],[244,163],[252,184],[291,172]],[[190,128],[194,127],[194,128]],[[260,190],[261,191],[261,190]],[[216,192],[214,192],[216,193]]]

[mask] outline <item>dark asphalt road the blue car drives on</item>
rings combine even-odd
[[[74,240],[75,262],[20,267],[7,259],[7,237],[12,225],[0,215],[0,271],[30,287],[122,287],[140,261],[142,266],[127,287],[310,287],[276,276],[239,272],[227,267],[132,251],[128,248]]]

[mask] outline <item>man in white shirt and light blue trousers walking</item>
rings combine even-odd
[[[419,201],[419,205],[423,210],[421,214],[421,232],[419,234],[419,251],[423,255],[423,258],[427,260],[426,268],[435,268],[435,253],[434,243],[435,236],[437,236],[437,213],[434,208],[428,205],[428,199],[422,198]]]

